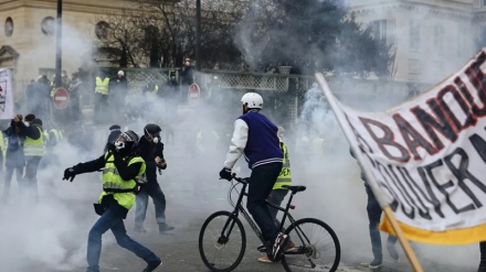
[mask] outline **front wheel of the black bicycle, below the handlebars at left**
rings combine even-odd
[[[234,270],[245,249],[246,235],[237,217],[221,210],[205,219],[199,233],[199,253],[208,269],[214,272]]]

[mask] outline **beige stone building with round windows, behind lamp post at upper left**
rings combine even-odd
[[[0,0],[0,67],[11,68],[15,81],[34,79],[41,74],[51,78],[55,67],[56,2]],[[127,2],[63,1],[63,69],[71,74],[93,57],[98,19],[119,12]]]

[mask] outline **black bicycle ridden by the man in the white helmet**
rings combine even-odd
[[[266,249],[272,248],[242,205],[243,197],[247,195],[249,178],[233,176],[233,179],[237,183],[231,181],[228,196],[230,205],[234,207],[233,211],[220,210],[210,215],[199,233],[199,253],[205,266],[213,272],[232,271],[243,259],[246,249],[246,233],[239,219],[240,214],[243,215],[263,243],[257,250],[266,253]],[[239,184],[242,185],[240,192],[236,188]],[[267,205],[284,213],[279,225],[281,230],[287,218],[290,221],[284,232],[292,238],[296,247],[285,250],[281,258],[285,271],[336,271],[340,260],[340,244],[335,231],[316,218],[295,220],[289,214],[289,209],[295,208],[292,200],[295,194],[305,191],[306,187],[285,186],[285,188],[292,192],[285,208],[267,202]],[[233,191],[239,194],[236,204],[232,200]],[[315,237],[315,233],[323,233],[323,236]]]

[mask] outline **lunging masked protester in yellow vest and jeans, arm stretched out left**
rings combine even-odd
[[[145,272],[154,271],[162,261],[149,249],[128,237],[124,219],[135,204],[135,194],[140,184],[146,183],[146,164],[137,154],[139,138],[134,131],[119,134],[115,143],[109,144],[108,152],[98,159],[80,163],[64,171],[63,179],[71,182],[77,174],[103,170],[103,192],[95,211],[101,217],[89,230],[87,241],[87,271],[99,271],[102,236],[112,230],[117,243],[147,262]]]

